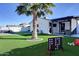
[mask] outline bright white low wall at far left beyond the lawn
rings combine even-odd
[[[29,30],[29,27],[22,27],[22,26],[1,26],[0,27],[0,32],[1,31],[9,31],[11,30],[12,32],[26,32]]]

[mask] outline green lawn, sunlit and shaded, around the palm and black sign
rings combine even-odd
[[[48,56],[49,35],[39,35],[41,41],[27,41],[31,35],[0,35],[0,55],[10,56]],[[20,38],[20,39],[19,39]],[[54,51],[54,56],[79,56],[79,46],[68,46],[75,38],[63,37],[64,51]]]

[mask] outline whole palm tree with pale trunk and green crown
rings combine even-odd
[[[21,3],[17,6],[17,13],[19,15],[25,14],[26,16],[33,17],[33,32],[32,39],[37,39],[37,19],[45,16],[46,14],[52,14],[50,8],[55,5],[52,3]]]

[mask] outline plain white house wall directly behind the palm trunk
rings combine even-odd
[[[49,20],[47,19],[38,19],[38,25],[39,27],[37,27],[37,29],[39,30],[38,33],[45,33],[45,34],[50,34],[49,32]],[[30,23],[30,31],[33,31],[33,23]]]

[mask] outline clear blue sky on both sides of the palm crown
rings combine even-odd
[[[21,15],[19,16],[15,10],[18,4],[0,4],[0,25],[11,25],[20,23],[29,23],[32,17]],[[56,7],[52,9],[53,14],[47,15],[47,18],[59,18],[65,16],[79,16],[79,4],[78,3],[56,3]]]

